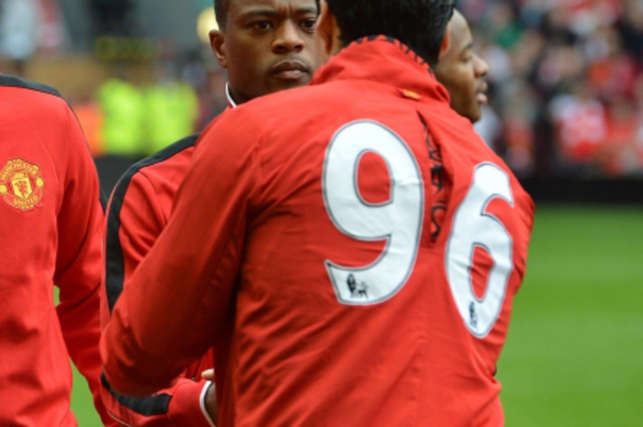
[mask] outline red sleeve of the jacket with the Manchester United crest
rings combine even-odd
[[[60,289],[57,314],[62,335],[80,373],[93,394],[96,410],[106,425],[113,421],[100,399],[99,291],[104,212],[98,176],[80,125],[67,111],[66,167],[61,177],[62,201],[57,216],[58,251],[54,284]]]

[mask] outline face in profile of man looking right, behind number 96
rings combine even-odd
[[[435,77],[451,96],[451,107],[460,116],[480,120],[480,105],[487,103],[487,63],[473,51],[469,24],[457,10],[450,23],[451,46],[435,68]]]

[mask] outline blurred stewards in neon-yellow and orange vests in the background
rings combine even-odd
[[[198,59],[159,62],[151,81],[118,67],[95,95],[73,102],[93,156],[149,156],[201,131],[228,105],[226,75]]]

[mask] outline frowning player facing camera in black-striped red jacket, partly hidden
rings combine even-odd
[[[220,0],[215,2],[215,10],[220,30],[210,36],[217,60],[228,70],[226,89],[231,107],[311,80],[318,65],[315,0]],[[123,287],[132,286],[129,278],[134,269],[167,224],[198,137],[189,136],[136,163],[114,189],[107,215],[104,325]],[[234,177],[228,179],[234,181]],[[204,408],[206,402],[215,400],[215,388],[199,381],[201,370],[213,365],[212,350],[200,356],[181,372],[174,385],[141,399],[119,395],[103,379],[107,408],[131,426],[166,426],[168,422],[175,426],[212,425],[215,406],[211,405],[210,414]]]

